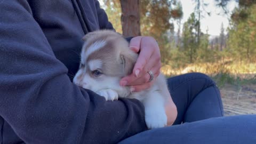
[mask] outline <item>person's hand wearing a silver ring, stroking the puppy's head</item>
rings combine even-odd
[[[160,74],[161,55],[158,44],[153,37],[138,36],[131,39],[130,49],[138,53],[139,57],[131,75],[123,77],[120,81],[121,86],[131,86],[131,92],[138,92],[148,89],[153,85],[154,80],[149,82],[151,70],[154,79]]]

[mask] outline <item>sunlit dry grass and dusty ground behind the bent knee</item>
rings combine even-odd
[[[225,115],[256,114],[256,63],[222,60],[193,63],[175,69],[165,65],[162,72],[166,76],[190,72],[210,75],[220,87]]]

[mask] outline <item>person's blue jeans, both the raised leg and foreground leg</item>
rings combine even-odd
[[[168,79],[178,116],[173,126],[148,130],[125,143],[256,143],[256,115],[223,117],[220,91],[212,79],[190,73]]]

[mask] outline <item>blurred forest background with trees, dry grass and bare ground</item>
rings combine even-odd
[[[188,1],[194,12],[184,23],[178,0],[101,0],[101,6],[118,33],[157,40],[166,76],[206,73],[220,87],[226,115],[256,114],[256,0],[211,0],[229,20],[218,36],[201,30],[202,19],[212,14],[209,4]],[[231,1],[234,10],[227,7]]]

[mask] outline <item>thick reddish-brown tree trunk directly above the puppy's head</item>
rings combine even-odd
[[[123,35],[125,37],[140,36],[140,1],[120,0],[120,3]]]

